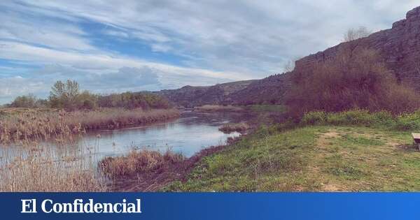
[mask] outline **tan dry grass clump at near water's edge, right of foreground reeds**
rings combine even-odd
[[[160,170],[183,159],[181,154],[169,149],[164,154],[142,149],[133,150],[127,156],[106,157],[99,162],[99,167],[111,179],[115,179]]]

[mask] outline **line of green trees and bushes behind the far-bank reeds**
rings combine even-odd
[[[167,98],[151,92],[124,92],[121,94],[93,94],[80,91],[80,85],[74,80],[57,81],[51,87],[48,98],[37,98],[34,94],[18,96],[10,108],[59,108],[65,110],[94,110],[96,108],[172,108]]]

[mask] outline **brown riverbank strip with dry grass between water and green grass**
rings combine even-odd
[[[228,145],[237,140],[239,139],[230,138]],[[111,191],[161,191],[172,182],[186,181],[188,175],[204,157],[221,152],[225,147],[226,145],[208,147],[189,158],[183,158],[170,151],[132,152],[127,156],[103,159],[99,164],[111,179],[107,186]],[[152,154],[154,156],[151,156]],[[153,163],[150,163],[151,161]]]

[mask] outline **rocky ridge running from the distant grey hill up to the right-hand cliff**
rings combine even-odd
[[[395,22],[391,29],[340,43],[323,52],[297,60],[295,70],[290,73],[211,87],[187,86],[163,90],[160,94],[167,96],[174,103],[183,105],[282,103],[290,88],[290,75],[296,71],[307,71],[313,64],[334,57],[341,47],[351,47],[353,52],[362,48],[377,50],[399,82],[420,91],[420,7],[417,7],[410,10],[404,20]]]

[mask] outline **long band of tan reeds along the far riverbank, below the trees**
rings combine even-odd
[[[178,110],[102,109],[95,111],[17,112],[0,119],[0,141],[51,138],[94,129],[117,129],[179,117]]]

